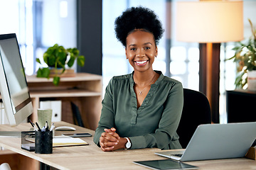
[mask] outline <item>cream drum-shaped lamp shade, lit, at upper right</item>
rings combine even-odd
[[[176,40],[243,40],[242,1],[179,1],[176,5]]]

